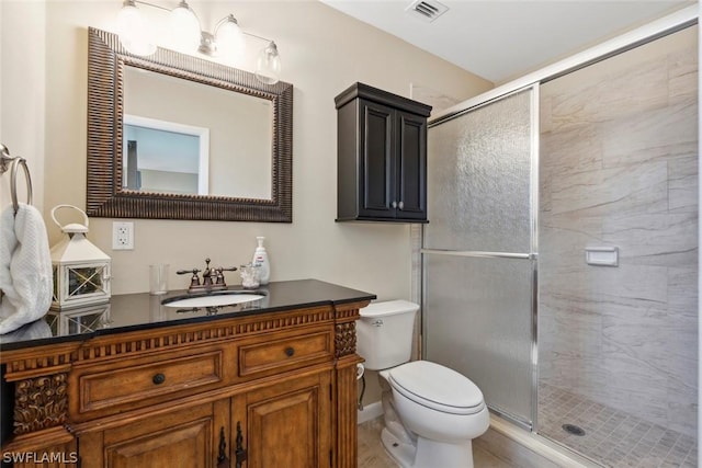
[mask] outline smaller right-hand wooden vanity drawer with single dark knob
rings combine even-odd
[[[333,333],[329,329],[297,336],[261,340],[239,346],[239,376],[264,376],[331,362]]]

